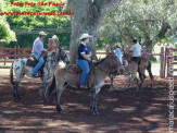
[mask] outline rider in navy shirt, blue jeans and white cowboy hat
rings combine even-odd
[[[89,70],[89,61],[91,61],[91,50],[88,47],[89,44],[89,38],[92,37],[89,34],[83,34],[81,37],[79,38],[79,40],[81,40],[79,47],[78,47],[78,51],[77,51],[77,64],[78,66],[80,66],[80,69],[83,70],[81,76],[80,76],[80,87],[81,88],[86,88],[85,83],[87,80],[87,76],[90,72]],[[93,60],[93,62],[96,62]]]

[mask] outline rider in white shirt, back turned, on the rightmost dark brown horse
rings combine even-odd
[[[134,57],[131,57],[130,60],[136,61],[138,57],[141,57],[141,46],[137,43],[137,39],[134,39],[134,45],[130,49],[130,51],[134,52]]]

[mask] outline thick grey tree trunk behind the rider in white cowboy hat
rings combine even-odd
[[[113,8],[118,5],[121,0],[67,0],[67,8],[74,13],[71,19],[72,37],[69,46],[71,62],[76,62],[78,38],[84,33],[89,33],[93,37],[90,39],[90,48],[96,55],[96,45],[99,37],[99,28],[104,16]]]

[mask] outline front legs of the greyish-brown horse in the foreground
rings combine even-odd
[[[98,109],[97,109],[97,100],[98,100],[98,94],[99,94],[100,89],[101,89],[101,87],[98,87],[97,89],[93,89],[91,92],[92,97],[91,97],[90,111],[91,111],[91,114],[93,114],[93,116],[99,114]]]

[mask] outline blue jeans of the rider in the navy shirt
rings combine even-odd
[[[80,85],[85,85],[85,82],[87,80],[87,76],[89,74],[89,63],[87,60],[78,60],[77,59],[77,64],[80,66],[80,69],[83,70],[83,73],[81,73],[81,77],[80,77]]]

